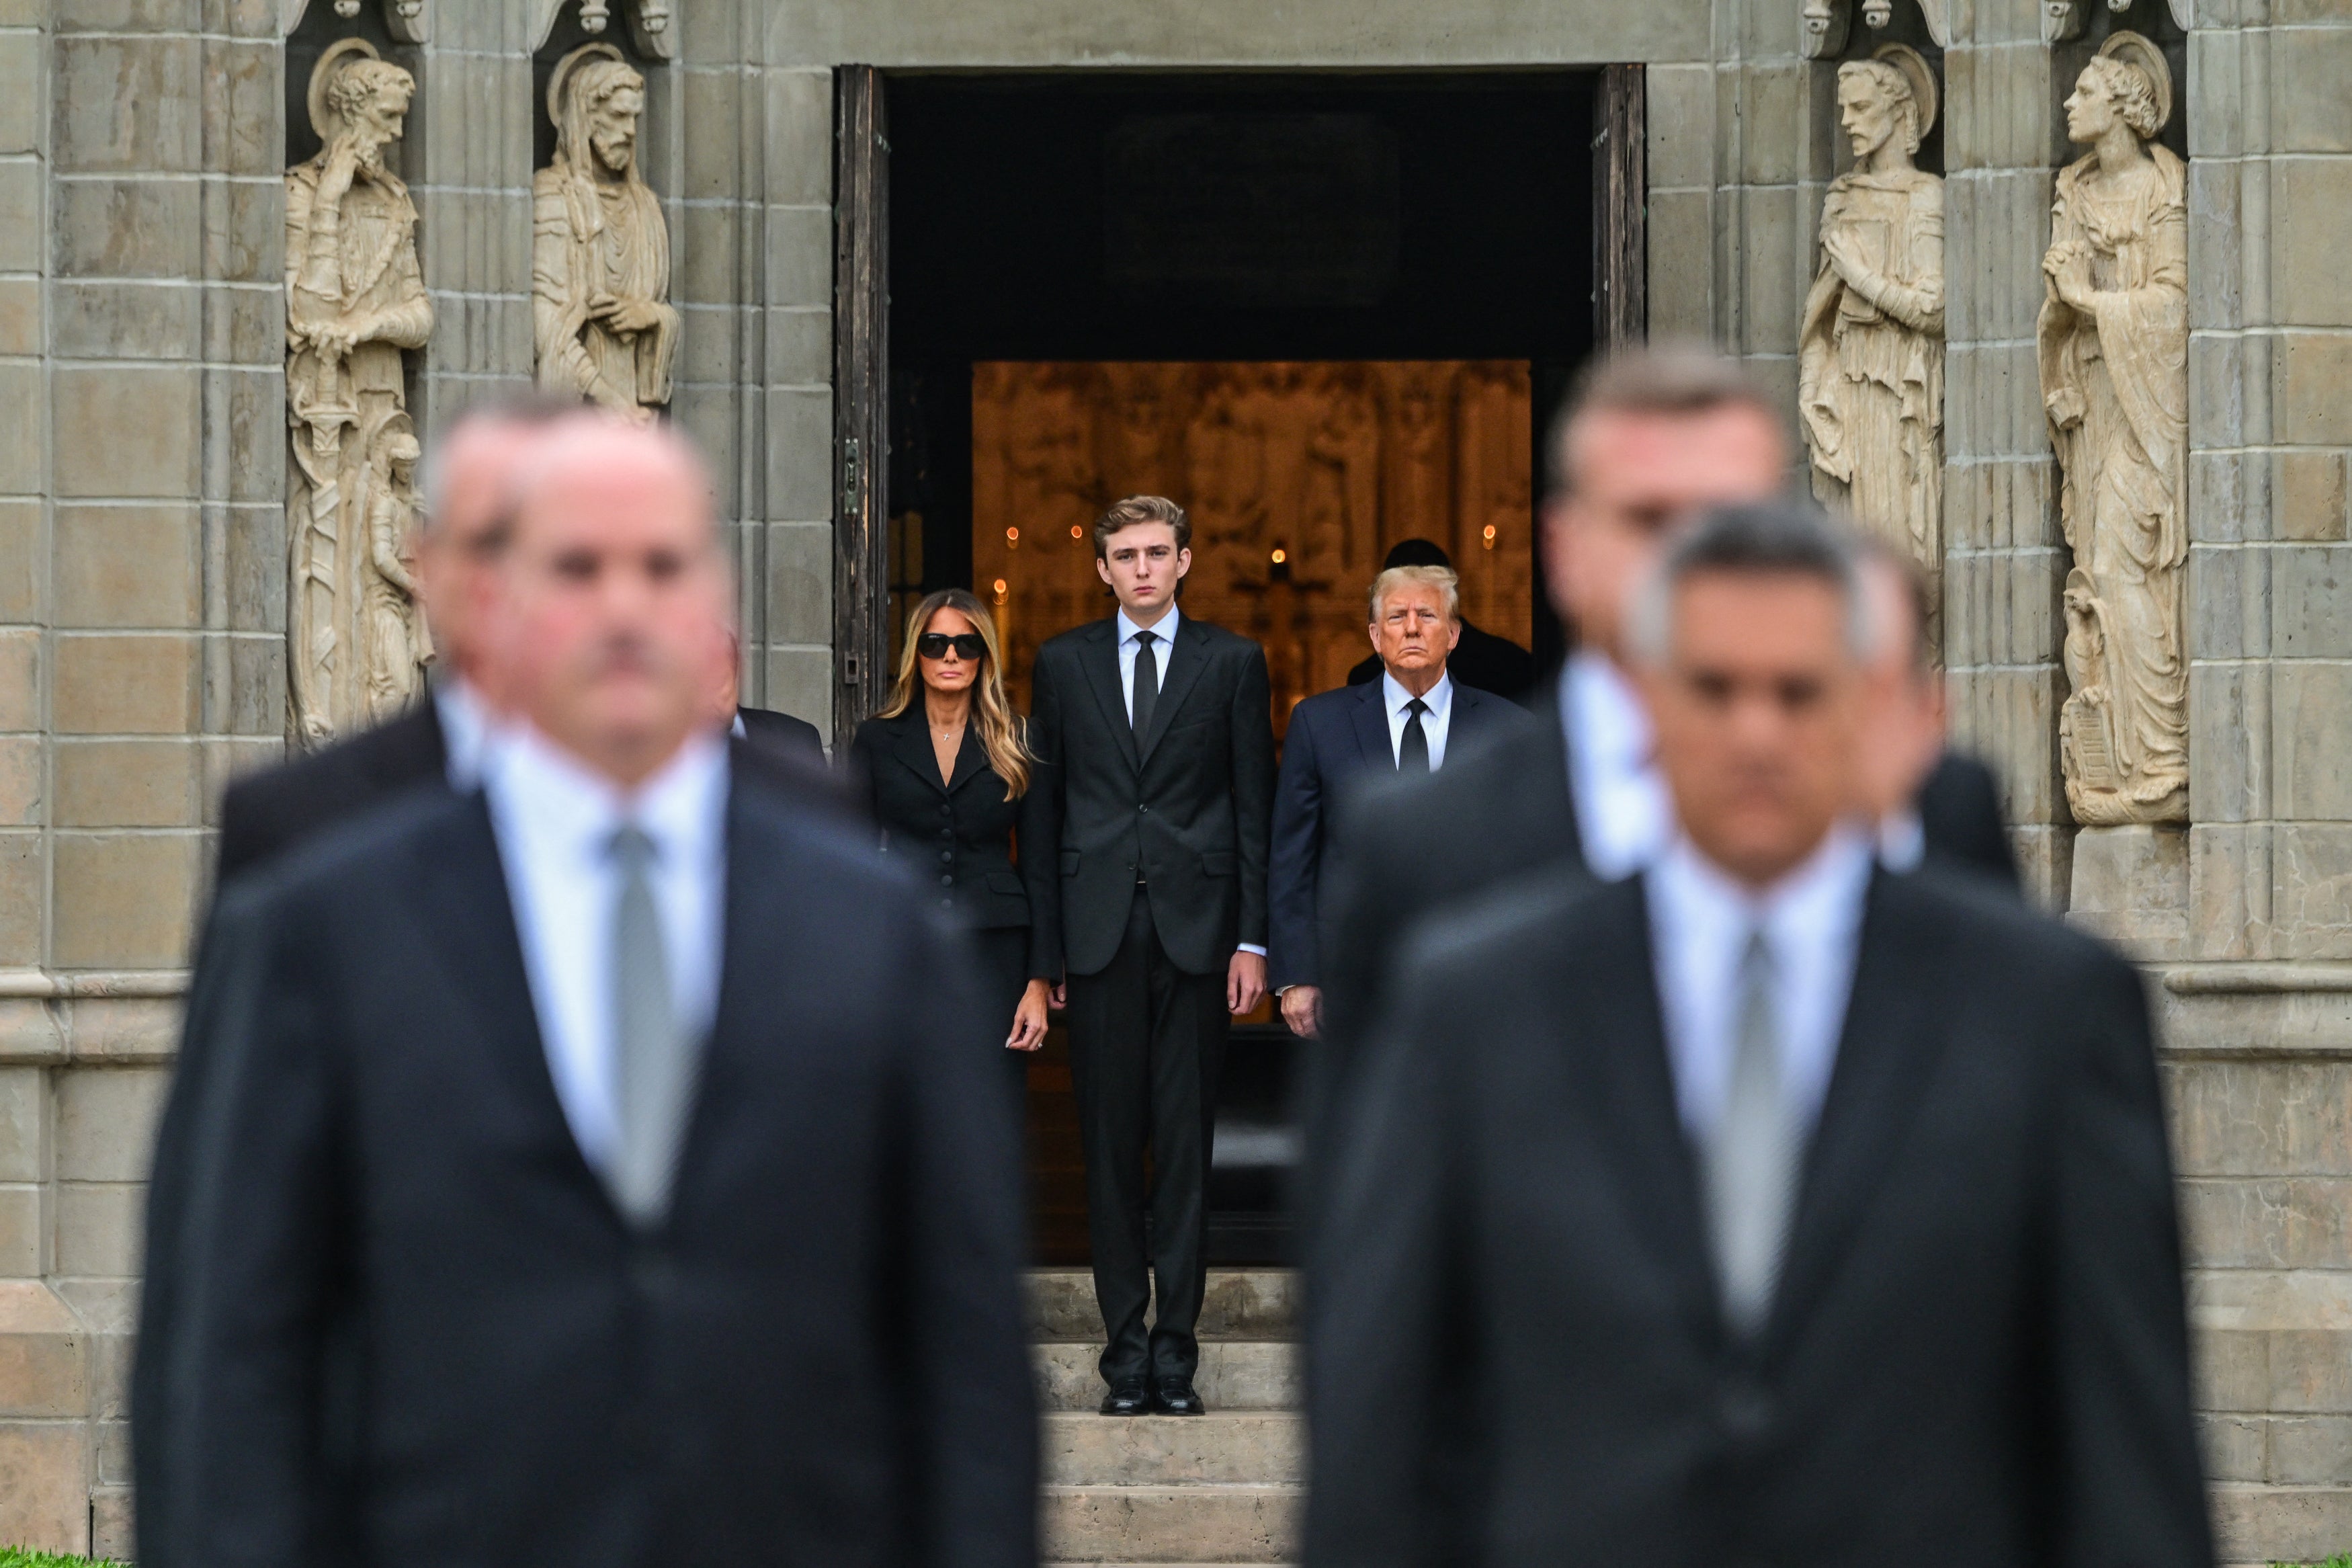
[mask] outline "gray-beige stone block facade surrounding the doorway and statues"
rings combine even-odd
[[[129,1544],[139,1182],[207,811],[285,743],[289,80],[332,38],[419,87],[416,428],[534,374],[534,56],[586,40],[581,0],[430,0],[423,42],[390,5],[0,0],[0,1540]],[[2056,45],[2037,0],[1839,7],[1818,59],[1799,0],[677,0],[659,49],[644,0],[595,7],[647,78],[670,414],[734,520],[748,701],[833,712],[837,66],[1642,61],[1651,331],[1750,357],[1795,430],[1837,66],[1919,49],[1957,729],[1999,759],[2037,893],[2157,983],[2227,1556],[2352,1549],[2352,5],[2079,5]],[[2126,26],[2173,63],[2187,160],[2190,820],[2077,867],[2034,315],[2058,101]]]

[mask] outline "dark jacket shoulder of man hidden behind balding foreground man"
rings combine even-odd
[[[419,785],[445,785],[449,745],[430,701],[261,773],[221,797],[214,886]]]

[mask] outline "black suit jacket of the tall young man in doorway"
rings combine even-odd
[[[1061,867],[1056,924],[1068,973],[1120,950],[1136,877],[1185,973],[1223,973],[1265,945],[1275,731],[1265,649],[1183,616],[1160,670],[1152,729],[1136,736],[1120,684],[1117,618],[1037,649],[1030,736],[1047,769],[1040,851]],[[1023,851],[1025,853],[1025,851]]]

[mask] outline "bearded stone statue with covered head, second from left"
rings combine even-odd
[[[637,172],[644,78],[614,45],[586,45],[555,66],[548,113],[555,162],[532,181],[539,386],[654,418],[680,317],[670,230]]]

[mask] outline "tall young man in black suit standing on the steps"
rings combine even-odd
[[[1037,649],[1030,736],[1047,809],[1042,842],[1021,853],[1061,870],[1087,1234],[1110,1340],[1103,1413],[1200,1415],[1192,1324],[1225,1018],[1265,997],[1265,651],[1176,609],[1192,524],[1174,501],[1115,503],[1094,557],[1120,609]]]

